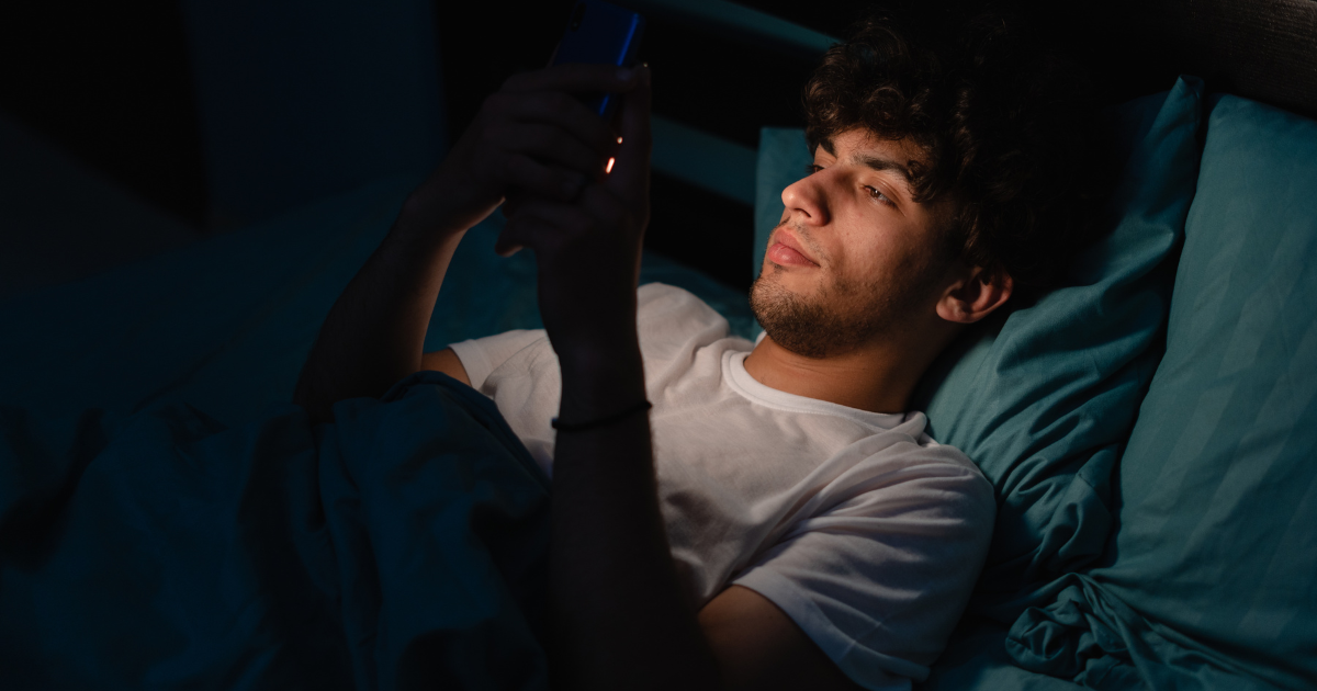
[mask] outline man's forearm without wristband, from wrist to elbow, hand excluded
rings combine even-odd
[[[464,225],[404,207],[325,317],[294,403],[312,419],[329,420],[336,401],[379,396],[420,369],[429,315]]]

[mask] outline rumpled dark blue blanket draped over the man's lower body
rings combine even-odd
[[[548,484],[436,372],[227,428],[0,407],[0,688],[540,688]]]

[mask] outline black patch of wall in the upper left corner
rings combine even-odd
[[[205,179],[175,0],[0,3],[0,108],[200,226]]]

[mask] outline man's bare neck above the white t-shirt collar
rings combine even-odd
[[[905,412],[919,376],[940,347],[907,350],[880,344],[826,358],[806,358],[765,336],[745,358],[745,371],[769,388],[797,396],[861,411]]]

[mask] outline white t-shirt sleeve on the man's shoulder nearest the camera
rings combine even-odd
[[[910,688],[969,600],[994,513],[992,486],[968,461],[906,465],[855,480],[734,583],[772,600],[860,686]]]

